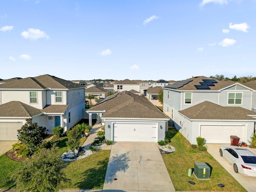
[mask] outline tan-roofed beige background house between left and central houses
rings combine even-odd
[[[100,99],[104,99],[105,97],[109,96],[109,90],[106,90],[104,88],[98,87],[98,86],[92,86],[90,88],[85,89],[85,98],[87,101],[92,102],[92,104],[96,104]],[[90,100],[87,99],[88,95],[93,95],[94,99]]]

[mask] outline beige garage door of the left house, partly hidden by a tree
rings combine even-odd
[[[17,130],[22,127],[22,122],[0,122],[0,141],[16,141]]]

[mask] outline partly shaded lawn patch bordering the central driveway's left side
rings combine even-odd
[[[100,150],[86,158],[66,162],[64,173],[70,182],[62,183],[63,188],[102,189],[110,150]]]

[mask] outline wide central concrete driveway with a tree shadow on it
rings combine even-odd
[[[117,142],[112,145],[103,192],[175,192],[156,143]]]

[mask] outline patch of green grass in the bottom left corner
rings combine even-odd
[[[11,160],[3,154],[0,156],[0,188],[12,188],[13,182],[10,180],[12,174],[18,170],[21,163]]]

